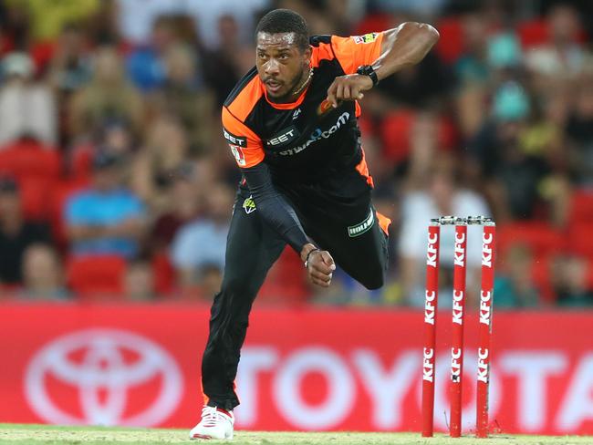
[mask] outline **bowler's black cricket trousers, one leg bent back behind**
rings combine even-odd
[[[358,171],[311,184],[276,184],[291,202],[305,233],[350,276],[369,289],[383,285],[387,234],[370,202],[371,187]],[[221,291],[214,296],[208,343],[203,353],[206,403],[234,409],[234,378],[249,313],[265,275],[286,246],[259,216],[246,186],[240,186],[226,244]],[[303,274],[306,271],[303,270]]]

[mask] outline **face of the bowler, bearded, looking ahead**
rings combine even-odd
[[[275,101],[290,99],[307,80],[310,57],[310,49],[296,46],[295,33],[259,33],[255,66],[267,96]]]

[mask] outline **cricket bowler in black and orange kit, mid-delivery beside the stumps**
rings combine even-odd
[[[255,38],[255,67],[222,111],[243,179],[203,353],[205,405],[192,439],[233,438],[234,378],[249,312],[286,244],[315,285],[327,287],[336,264],[369,289],[383,285],[390,220],[370,200],[358,100],[419,63],[439,34],[403,23],[365,36],[308,36],[302,16],[276,9],[260,20]]]

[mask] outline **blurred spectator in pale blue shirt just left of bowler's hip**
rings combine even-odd
[[[172,264],[182,285],[198,283],[205,265],[216,264],[221,270],[224,267],[233,191],[223,184],[216,184],[206,200],[203,217],[183,226],[173,240]],[[243,209],[237,211],[243,212]]]

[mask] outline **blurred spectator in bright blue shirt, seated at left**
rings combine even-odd
[[[93,160],[92,185],[67,202],[65,220],[73,254],[134,258],[145,228],[144,206],[120,184],[120,164],[109,153]]]

